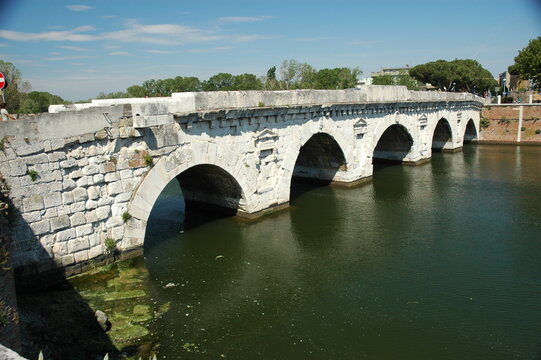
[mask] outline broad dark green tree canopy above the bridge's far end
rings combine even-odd
[[[481,93],[497,86],[492,74],[472,59],[437,60],[417,65],[410,75],[444,91]]]

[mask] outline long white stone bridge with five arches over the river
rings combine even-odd
[[[93,100],[0,122],[13,262],[39,278],[106,258],[106,240],[140,252],[173,179],[187,206],[253,218],[287,207],[293,178],[354,185],[375,161],[422,163],[476,139],[482,105],[470,94],[367,86]]]

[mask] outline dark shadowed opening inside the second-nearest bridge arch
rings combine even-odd
[[[290,199],[314,186],[329,185],[339,172],[347,171],[342,148],[333,136],[318,132],[299,149],[290,184]],[[299,183],[311,186],[299,186]]]

